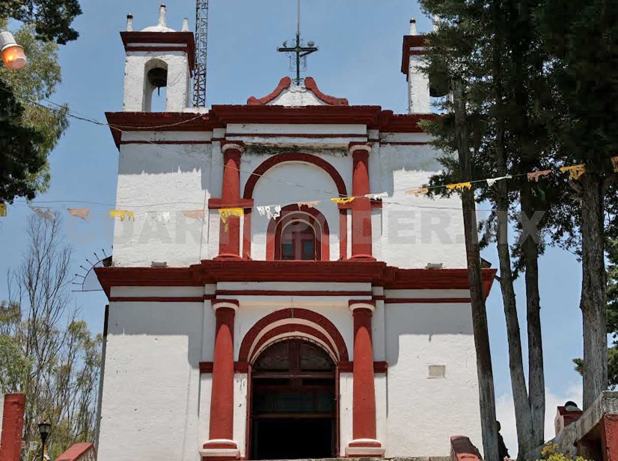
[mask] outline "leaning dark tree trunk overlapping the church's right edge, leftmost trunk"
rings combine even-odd
[[[462,181],[470,181],[472,179],[472,165],[462,82],[455,80],[453,82],[453,89],[461,179]],[[476,373],[478,374],[483,453],[484,459],[487,461],[499,461],[496,398],[494,396],[494,378],[491,368],[487,314],[485,312],[485,293],[483,293],[483,279],[481,276],[481,256],[476,225],[476,202],[472,189],[464,189],[462,191],[462,209],[464,213],[468,283],[470,284],[470,299],[472,301],[472,327],[476,349]]]

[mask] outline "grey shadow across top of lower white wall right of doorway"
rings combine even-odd
[[[386,357],[389,366],[399,361],[400,336],[416,335],[430,343],[434,335],[472,336],[470,304],[386,304]]]

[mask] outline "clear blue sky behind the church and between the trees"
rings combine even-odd
[[[208,34],[208,105],[244,104],[248,96],[265,96],[284,75],[290,75],[287,57],[276,52],[296,28],[294,0],[211,0]],[[379,6],[378,6],[379,5]],[[105,111],[122,110],[124,49],[119,31],[126,15],[133,14],[135,30],[155,25],[156,0],[82,0],[83,15],[74,22],[80,38],[61,47],[62,85],[52,96],[70,109],[104,120]],[[193,0],[167,3],[167,25],[180,30],[187,16],[193,30]],[[400,73],[402,36],[410,17],[418,30],[428,31],[430,20],[417,2],[409,0],[305,0],[302,36],[313,39],[320,51],[308,58],[306,75],[314,77],[324,93],[348,98],[350,104],[376,104],[384,109],[407,110],[405,76]],[[102,202],[114,204],[118,152],[106,127],[72,120],[66,135],[51,154],[53,175],[48,193],[37,201]],[[60,210],[72,206],[58,202]],[[73,204],[73,206],[76,206]],[[93,206],[90,223],[66,219],[66,232],[75,243],[75,269],[92,260],[93,252],[111,252],[112,221],[105,206]],[[6,298],[4,274],[19,264],[25,245],[23,232],[30,214],[25,204],[9,208],[0,222],[0,299]],[[483,255],[497,266],[493,248]],[[574,255],[549,248],[540,262],[541,322],[548,410],[568,398],[581,401],[581,379],[571,359],[582,355],[582,316],[579,310],[580,267]],[[517,304],[524,354],[525,287],[517,281]],[[103,328],[103,293],[77,293],[75,303],[91,330]],[[498,413],[507,444],[514,446],[510,408],[510,376],[506,326],[500,289],[494,283],[488,299],[488,321]],[[552,407],[549,407],[549,405]],[[509,421],[506,421],[509,419]],[[546,433],[546,438],[553,436]],[[480,444],[480,441],[475,441]],[[512,450],[511,454],[514,454]]]

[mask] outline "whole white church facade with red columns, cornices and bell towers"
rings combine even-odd
[[[413,191],[440,169],[418,126],[434,117],[421,36],[404,37],[408,114],[288,77],[206,111],[189,107],[193,34],[161,17],[121,33],[124,110],[106,114],[117,209],[134,219],[116,221],[112,265],[96,268],[99,460],[480,445],[459,197]]]

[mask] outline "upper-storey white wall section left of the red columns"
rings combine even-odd
[[[208,144],[121,145],[116,209],[133,211],[135,222],[116,218],[114,265],[186,267],[218,254],[218,247],[209,252],[207,221],[182,214],[207,207],[210,151]],[[169,213],[169,221],[157,212]]]

